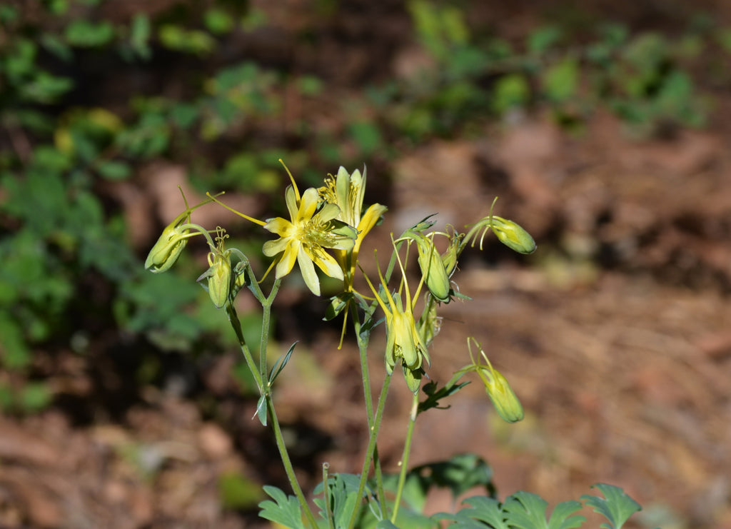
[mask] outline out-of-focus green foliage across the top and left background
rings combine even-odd
[[[333,20],[345,9],[314,4]],[[702,126],[709,99],[694,72],[723,85],[731,54],[731,28],[708,20],[681,38],[547,23],[518,42],[471,23],[469,2],[412,0],[404,44],[421,66],[344,91],[327,70],[247,51],[257,31],[276,28],[294,49],[323,30],[276,26],[246,2],[134,13],[105,0],[28,5],[0,5],[0,365],[29,377],[34,348],[68,347],[85,314],[164,349],[216,335],[216,318],[200,316],[208,304],[190,281],[195,264],[152,281],[145,249],[129,246],[115,186],[142,184],[151,161],[186,165],[203,190],[281,202],[279,158],[314,183],[321,167],[387,161],[403,140],[471,134],[516,112],[548,110],[580,128],[604,108],[647,137]],[[324,126],[299,110],[307,105],[327,108]],[[31,411],[52,398],[13,376],[0,376],[0,407]]]

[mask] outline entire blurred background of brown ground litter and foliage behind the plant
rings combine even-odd
[[[643,504],[634,528],[731,528],[730,60],[721,0],[1,1],[0,527],[268,527],[260,487],[286,481],[195,283],[206,248],[164,275],[143,261],[178,186],[283,213],[281,158],[300,186],[366,165],[366,202],[390,207],[375,246],[495,196],[537,240],[466,253],[474,301],[444,308],[429,372],[446,381],[474,335],[526,419],[501,425],[473,384],[420,419],[414,465],[476,452],[501,498],[607,482]],[[261,229],[194,221],[265,270]],[[276,399],[306,489],[323,461],[359,471],[366,442],[357,349],[325,303],[292,275],[272,337],[300,340]]]

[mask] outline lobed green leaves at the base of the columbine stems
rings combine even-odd
[[[480,479],[467,479],[481,476]],[[387,494],[393,491],[396,476],[385,476]],[[619,487],[595,484],[592,488],[601,495],[582,495],[580,501],[558,503],[550,515],[548,502],[530,492],[515,492],[499,501],[494,495],[491,468],[479,457],[471,454],[457,455],[452,460],[423,465],[409,472],[404,493],[404,507],[395,522],[385,519],[382,498],[368,488],[363,498],[357,498],[359,476],[335,474],[327,480],[327,492],[321,483],[314,491],[320,509],[321,527],[341,529],[348,527],[349,514],[356,503],[362,503],[356,527],[359,529],[426,529],[439,528],[443,522],[454,529],[571,529],[584,525],[586,517],[577,514],[585,507],[594,509],[607,520],[602,529],[621,529],[632,514],[640,511],[640,505]],[[455,514],[438,513],[431,517],[421,514],[428,492],[435,487],[446,487],[455,498],[476,485],[492,491],[488,495],[471,496]],[[262,501],[260,516],[291,529],[306,528],[300,506],[294,496],[287,496],[276,487],[265,487],[272,498]],[[388,502],[388,498],[385,498]],[[326,503],[327,502],[327,503]]]

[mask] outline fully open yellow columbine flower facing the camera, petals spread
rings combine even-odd
[[[289,175],[292,178],[292,175]],[[327,254],[325,248],[348,251],[355,245],[355,229],[336,220],[340,208],[335,204],[320,205],[317,189],[310,188],[300,196],[297,184],[287,187],[284,197],[289,217],[271,218],[264,225],[277,240],[264,243],[264,254],[272,257],[282,254],[276,265],[276,278],[292,271],[295,260],[306,285],[317,296],[320,294],[319,279],[314,264],[331,278],[343,279],[343,270],[338,262]]]

